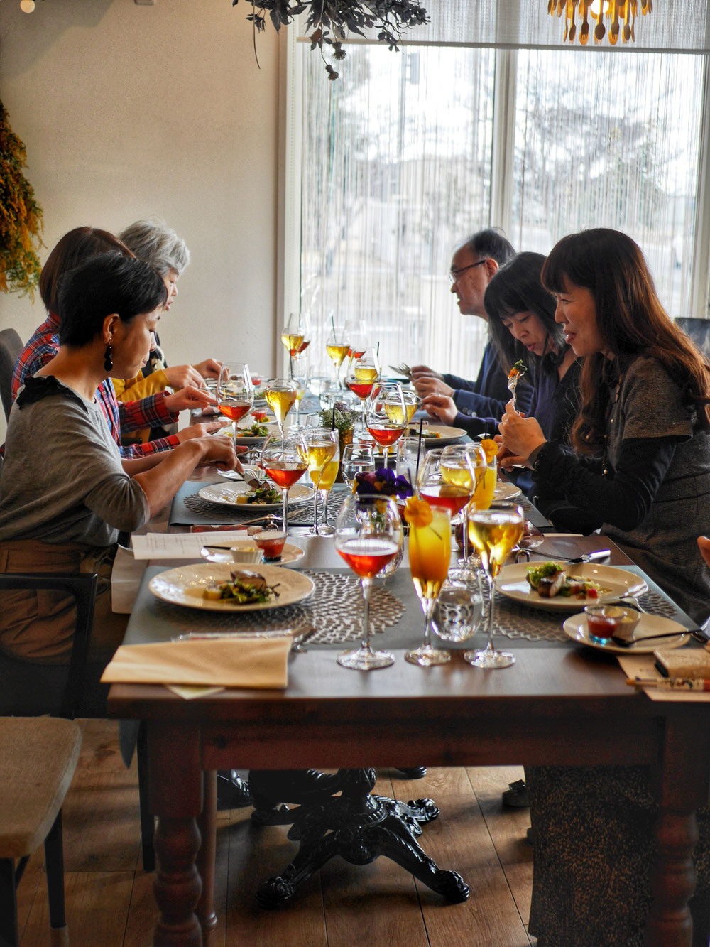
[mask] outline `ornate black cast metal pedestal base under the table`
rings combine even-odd
[[[250,773],[253,822],[291,825],[288,837],[300,843],[291,865],[259,888],[261,907],[290,901],[296,887],[334,855],[341,855],[351,865],[369,865],[385,855],[448,901],[466,901],[468,884],[457,872],[437,867],[417,844],[421,826],[439,813],[434,802],[417,799],[404,803],[370,795],[375,779],[373,769],[338,770],[332,776],[314,770]],[[295,809],[276,805],[285,793],[288,801],[301,804]]]

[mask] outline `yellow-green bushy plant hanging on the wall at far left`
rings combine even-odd
[[[42,207],[22,172],[26,164],[25,146],[0,102],[0,292],[34,299],[41,270],[37,250],[44,246]]]

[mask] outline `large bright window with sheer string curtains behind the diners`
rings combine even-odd
[[[668,312],[705,314],[705,260],[690,309],[703,56],[362,44],[347,46],[337,81],[308,44],[292,59],[286,306],[300,296],[311,311],[311,363],[327,361],[332,315],[363,319],[385,365],[474,375],[485,327],[458,313],[448,268],[456,243],[488,225],[541,253],[582,227],[622,229]]]

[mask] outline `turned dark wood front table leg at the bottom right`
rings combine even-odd
[[[695,813],[707,805],[708,750],[710,741],[700,721],[697,726],[688,721],[666,722],[661,809],[656,823],[658,853],[646,931],[648,947],[691,947],[693,924],[688,901],[695,888]]]

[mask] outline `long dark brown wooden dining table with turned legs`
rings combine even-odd
[[[290,541],[306,548],[299,568],[343,564],[328,540],[295,535]],[[570,551],[610,546],[605,562],[633,569],[605,537],[563,542]],[[183,630],[184,614],[171,624],[169,609],[186,610],[156,603],[146,587],[160,568],[147,570],[128,643]],[[411,585],[405,561],[391,587],[404,599]],[[459,652],[447,665],[423,669],[403,659],[407,629],[408,646],[422,630],[411,604],[392,630],[378,635],[384,646],[394,642],[395,664],[369,673],[340,667],[332,647],[292,653],[284,690],[229,689],[183,700],[163,686],[112,686],[110,713],[147,726],[151,810],[158,818],[154,944],[212,942],[216,770],[405,768],[424,760],[651,767],[660,811],[646,942],[690,947],[695,811],[707,804],[710,776],[707,706],[650,701],[627,686],[613,658],[572,642],[507,641],[516,663],[505,670],[471,668]]]

